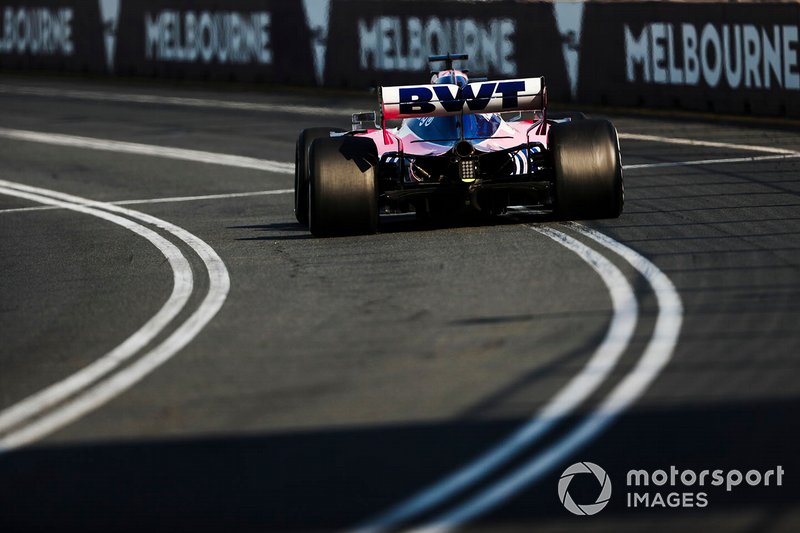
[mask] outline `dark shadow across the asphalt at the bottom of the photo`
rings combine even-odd
[[[797,519],[800,399],[637,409],[589,448],[558,465],[502,511],[474,527],[586,531],[767,531]],[[575,419],[565,427],[571,427]],[[275,435],[42,446],[0,456],[0,530],[245,532],[332,530],[397,503],[495,443],[521,420],[343,428]],[[530,458],[533,451],[529,450]],[[601,465],[613,482],[609,506],[591,520],[567,513],[556,487],[574,461]],[[706,509],[629,509],[630,469],[785,469],[781,487],[705,487]],[[574,498],[592,500],[591,484]],[[650,487],[696,492],[698,487]],[[583,494],[585,491],[587,494]],[[738,523],[729,513],[752,511]],[[694,520],[702,519],[702,522]],[[709,526],[708,520],[712,521]],[[787,524],[781,522],[785,527]],[[560,527],[559,527],[560,526]],[[638,528],[638,529],[637,529]],[[791,530],[791,528],[787,529]],[[796,529],[794,529],[796,530]],[[505,529],[504,529],[505,531]]]

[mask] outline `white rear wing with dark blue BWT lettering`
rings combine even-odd
[[[413,117],[446,117],[462,113],[538,111],[546,102],[544,77],[458,85],[381,87],[381,122]]]

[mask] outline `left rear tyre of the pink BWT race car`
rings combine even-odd
[[[309,224],[317,237],[378,231],[378,151],[370,139],[317,139],[309,151]]]

